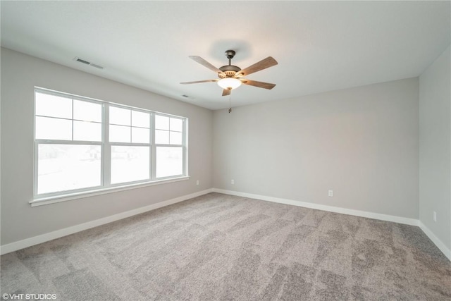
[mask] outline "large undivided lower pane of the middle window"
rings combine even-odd
[[[150,147],[111,147],[111,183],[125,183],[150,178]]]

